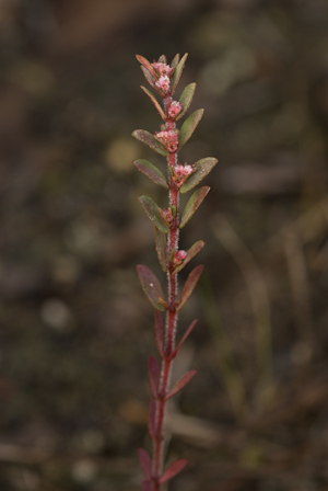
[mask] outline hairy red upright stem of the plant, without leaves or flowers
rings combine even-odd
[[[164,106],[166,114],[168,113],[169,105],[172,103],[171,94],[167,94],[164,99]],[[167,121],[166,129],[174,129],[175,123]],[[168,308],[166,312],[166,324],[165,324],[165,341],[164,341],[164,354],[161,366],[161,378],[159,387],[157,407],[156,407],[156,430],[155,437],[153,442],[153,480],[154,480],[154,491],[160,491],[161,484],[159,482],[160,477],[163,473],[163,463],[164,463],[164,423],[165,423],[165,412],[166,412],[166,396],[169,391],[171,374],[173,368],[174,358],[171,354],[175,347],[176,338],[176,324],[177,324],[177,293],[178,293],[178,278],[177,273],[174,273],[173,264],[169,262],[172,250],[178,250],[179,240],[179,191],[175,186],[175,183],[169,173],[169,168],[177,163],[177,151],[172,152],[167,157],[168,167],[168,181],[169,181],[169,205],[175,207],[176,216],[172,221],[169,227],[169,232],[167,235],[167,287],[168,287]]]

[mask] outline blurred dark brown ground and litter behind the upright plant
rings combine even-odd
[[[181,233],[207,247],[167,418],[172,491],[328,487],[326,0],[0,1],[0,488],[137,491],[161,277],[131,164],[160,116],[134,55],[189,53],[204,109],[181,162],[216,157]],[[184,198],[185,199],[185,198]],[[185,201],[183,202],[183,204]],[[192,266],[194,265],[194,266]]]

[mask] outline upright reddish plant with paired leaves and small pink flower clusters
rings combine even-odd
[[[168,206],[161,208],[151,197],[140,196],[139,201],[149,218],[154,224],[157,256],[162,270],[167,274],[167,297],[165,297],[161,283],[154,273],[142,264],[137,266],[141,286],[155,309],[155,339],[161,356],[161,365],[154,356],[149,357],[148,370],[152,393],[149,413],[149,434],[153,442],[152,458],[143,448],[139,449],[139,459],[143,471],[143,491],[159,491],[165,482],[169,481],[186,466],[186,459],[178,459],[164,470],[164,416],[166,401],[175,396],[196,375],[196,370],[187,372],[173,387],[171,387],[171,373],[174,358],[178,350],[192,331],[197,320],[191,322],[181,340],[176,345],[177,316],[190,297],[201,275],[202,265],[196,266],[189,274],[180,296],[178,297],[178,273],[203,248],[204,242],[199,240],[188,251],[179,250],[179,230],[197,210],[208,192],[209,186],[199,187],[190,196],[183,214],[179,214],[179,193],[192,190],[215,165],[216,159],[208,157],[194,164],[181,164],[178,161],[178,150],[188,141],[203,110],[197,110],[188,116],[180,129],[176,122],[188,110],[196,89],[196,83],[187,85],[179,100],[173,99],[176,85],[180,79],[187,54],[180,59],[176,55],[171,65],[162,55],[159,61],[151,64],[143,56],[137,55],[143,75],[150,85],[163,98],[163,107],[157,99],[144,87],[141,89],[150,98],[163,119],[161,132],[154,135],[144,129],[136,129],[132,135],[157,153],[166,157],[167,179],[148,160],[134,160],[139,171],[153,182],[168,191]],[[165,327],[162,312],[165,312]]]

